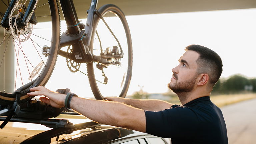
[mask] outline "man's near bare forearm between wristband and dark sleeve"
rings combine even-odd
[[[72,97],[70,107],[82,115],[99,123],[146,131],[145,113],[118,102],[91,100]],[[131,117],[131,116],[134,117]]]

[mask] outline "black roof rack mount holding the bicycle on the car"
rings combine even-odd
[[[58,89],[59,93],[69,92],[69,89]],[[4,128],[4,126],[9,122],[23,122],[23,123],[36,123],[45,125],[50,128],[73,128],[74,124],[70,123],[68,120],[59,120],[59,119],[49,119],[52,117],[57,117],[59,114],[64,113],[68,114],[68,111],[71,112],[69,114],[78,115],[78,113],[74,112],[71,109],[67,109],[65,107],[62,108],[54,108],[49,104],[43,103],[40,100],[28,100],[23,103],[20,102],[21,92],[19,90],[15,91],[16,100],[13,104],[8,106],[0,105],[0,121],[3,123],[0,125],[0,128]]]

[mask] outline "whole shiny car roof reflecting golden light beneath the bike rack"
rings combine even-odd
[[[59,118],[67,118],[67,115],[60,115]],[[58,139],[58,143],[86,141],[96,144],[115,142],[138,136],[149,136],[149,134],[134,130],[99,124],[79,115],[68,117],[68,120],[75,124],[74,127],[52,129],[40,124],[9,122],[6,127],[0,130],[1,143],[10,143],[12,141],[13,143],[21,144],[40,144],[51,143]]]

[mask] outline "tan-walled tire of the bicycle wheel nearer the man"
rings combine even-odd
[[[126,50],[127,50],[127,52],[126,52],[127,57],[124,56],[123,59],[125,59],[125,58],[128,59],[128,62],[127,62],[128,64],[127,64],[127,66],[126,65],[124,66],[125,68],[127,68],[127,71],[125,71],[124,76],[123,76],[123,77],[126,77],[126,78],[125,79],[123,78],[123,80],[122,80],[122,82],[123,82],[123,83],[121,83],[121,87],[122,88],[120,88],[120,90],[119,90],[120,92],[117,92],[117,95],[114,95],[114,96],[125,97],[126,94],[127,94],[128,87],[129,87],[130,81],[131,81],[131,76],[132,76],[132,41],[131,41],[131,34],[130,34],[129,26],[128,26],[128,23],[126,21],[124,13],[121,11],[120,8],[118,8],[117,6],[115,6],[113,4],[107,4],[107,5],[104,5],[104,6],[100,7],[98,12],[103,17],[107,13],[114,13],[117,16],[117,18],[120,19],[120,21],[122,23],[121,27],[123,27],[123,30],[124,30],[124,33],[125,33],[125,37],[126,37],[126,39],[124,41],[127,42],[127,46],[125,44],[125,47],[126,47]],[[98,27],[98,23],[99,23],[100,20],[101,19],[97,15],[94,16],[94,25],[93,25],[92,39],[91,39],[91,43],[90,43],[92,53],[94,51],[94,49],[93,49],[94,37],[96,37],[95,33],[96,33],[96,29]],[[94,94],[94,97],[96,99],[102,100],[106,96],[113,96],[113,95],[103,94],[102,93],[102,89],[99,88],[99,85],[101,85],[101,83],[97,82],[97,79],[95,78],[95,70],[96,69],[95,69],[95,65],[94,64],[95,63],[87,63],[88,79],[89,79],[89,83],[90,83],[92,92]],[[121,65],[121,67],[122,66],[123,65]],[[107,69],[109,69],[109,68],[107,68]],[[114,86],[115,88],[111,87],[111,89],[107,89],[106,91],[117,91],[119,88],[117,88],[116,85]]]

